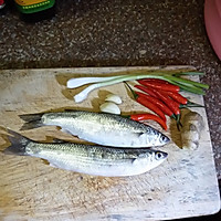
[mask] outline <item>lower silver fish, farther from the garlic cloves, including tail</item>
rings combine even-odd
[[[168,156],[167,152],[152,149],[36,143],[14,131],[9,133],[11,146],[4,154],[38,157],[48,160],[51,166],[94,176],[140,175],[160,165]]]

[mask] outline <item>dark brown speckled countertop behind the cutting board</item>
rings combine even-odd
[[[0,69],[193,65],[204,96],[221,181],[221,62],[208,40],[203,0],[60,0],[52,20],[0,15]]]

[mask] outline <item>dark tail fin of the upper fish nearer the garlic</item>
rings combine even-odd
[[[24,114],[24,115],[19,115],[19,117],[25,122],[22,125],[22,127],[20,128],[20,130],[34,129],[34,128],[43,126],[42,115],[43,114]]]

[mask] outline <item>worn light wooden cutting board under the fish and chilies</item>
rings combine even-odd
[[[0,71],[0,126],[19,131],[20,114],[49,109],[98,110],[107,93],[122,95],[123,113],[146,110],[134,102],[124,84],[99,88],[75,104],[77,90],[66,90],[74,76],[107,75],[133,70],[161,67],[91,67]],[[166,67],[192,69],[183,66]],[[198,80],[193,77],[193,80]],[[203,104],[200,95],[185,94]],[[204,108],[196,108],[206,127],[197,150],[180,149],[180,134],[169,122],[166,133],[172,141],[162,147],[169,154],[159,167],[140,176],[103,178],[52,168],[41,159],[0,152],[0,220],[168,220],[215,213],[220,209],[218,180]],[[158,125],[152,124],[160,129]],[[23,135],[73,140],[55,127],[42,127]],[[0,140],[1,148],[6,141]],[[178,146],[177,146],[178,145]]]

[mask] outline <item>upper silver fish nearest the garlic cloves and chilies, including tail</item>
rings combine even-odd
[[[170,140],[150,126],[107,113],[71,110],[21,115],[20,117],[27,122],[21,129],[55,125],[80,139],[104,146],[152,147],[162,146]]]

